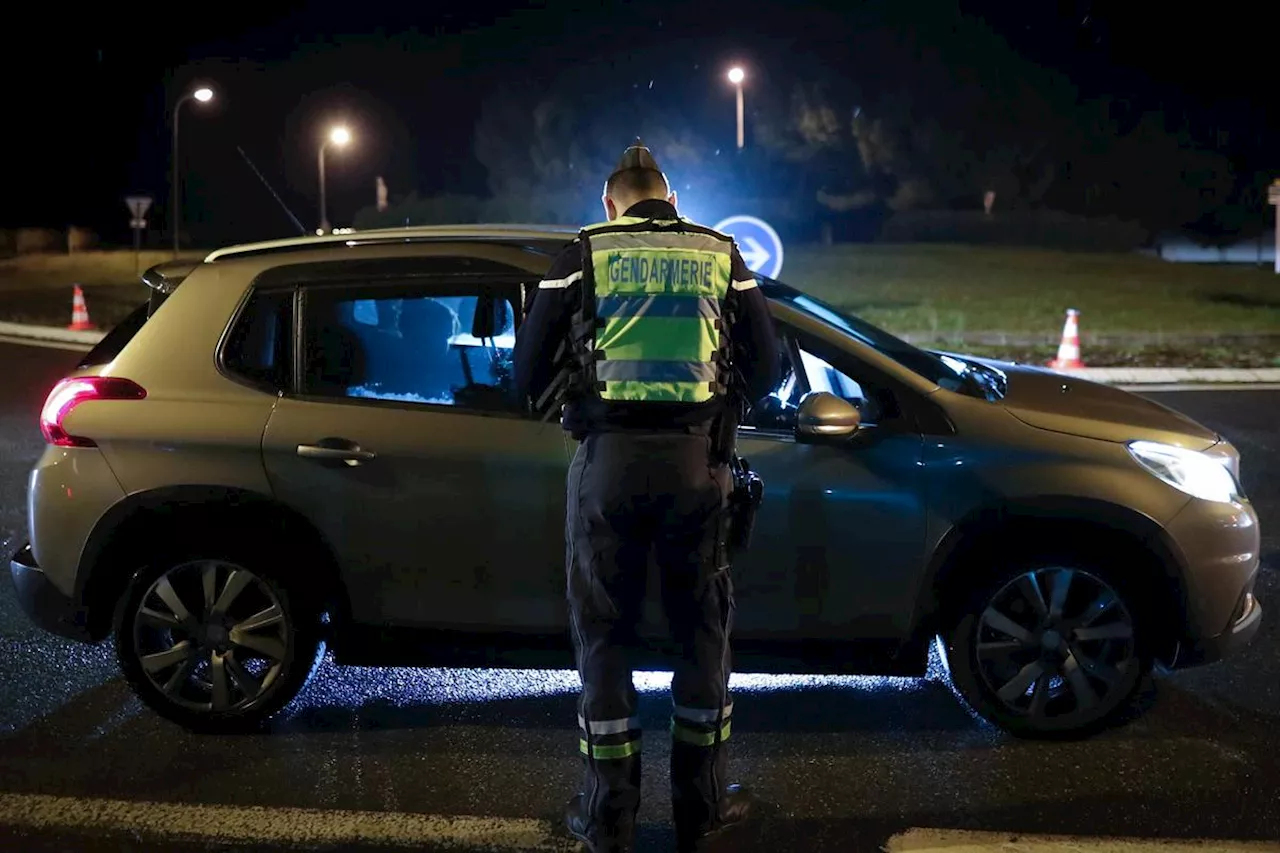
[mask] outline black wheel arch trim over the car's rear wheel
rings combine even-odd
[[[76,597],[87,613],[90,638],[111,631],[115,606],[141,561],[159,548],[187,538],[225,535],[287,540],[301,548],[319,575],[312,585],[317,603],[330,619],[349,616],[347,588],[333,547],[301,514],[275,498],[225,485],[178,485],[129,494],[109,508],[93,526],[81,553]]]

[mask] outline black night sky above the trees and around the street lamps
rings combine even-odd
[[[486,175],[471,143],[479,105],[511,81],[549,85],[566,67],[607,58],[612,74],[600,86],[652,81],[667,96],[701,99],[707,126],[698,131],[730,146],[732,90],[723,73],[731,63],[768,79],[805,63],[838,76],[847,59],[845,4],[451,5],[457,10],[138,1],[6,13],[0,227],[74,223],[127,240],[123,196],[166,197],[168,109],[197,82],[218,95],[183,108],[187,216],[193,229],[214,233],[209,223],[216,222],[216,233],[247,240],[296,228],[244,156],[314,225],[316,149],[334,120],[356,136],[349,150],[329,155],[330,219],[343,224],[374,201],[376,175],[393,197],[483,193]],[[927,32],[937,4],[884,5],[911,9]],[[1124,0],[960,8],[1083,93],[1190,110],[1202,128],[1225,131],[1224,143],[1256,169],[1280,170],[1276,12],[1242,3],[1174,14],[1169,4]],[[154,238],[164,240],[159,228]]]

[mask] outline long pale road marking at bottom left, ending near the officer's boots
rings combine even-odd
[[[0,825],[28,830],[134,833],[152,840],[241,844],[435,847],[572,853],[579,844],[547,821],[470,815],[210,806],[0,794]]]

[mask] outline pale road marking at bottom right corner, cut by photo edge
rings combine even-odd
[[[895,835],[886,853],[1280,853],[1280,841],[1088,838],[913,829]]]

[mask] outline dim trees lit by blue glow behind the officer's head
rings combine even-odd
[[[489,93],[475,128],[488,195],[398,195],[356,224],[594,220],[602,182],[635,136],[694,218],[754,211],[805,238],[832,228],[865,238],[895,216],[972,219],[986,215],[988,193],[1006,220],[1107,220],[1206,241],[1265,223],[1267,175],[1238,172],[1222,134],[1184,111],[1085,97],[973,18],[893,27],[881,17],[852,29],[838,70],[819,50],[778,58],[785,72],[750,82],[741,151],[731,96],[712,114],[714,99],[691,96],[687,82],[654,91],[616,60],[513,81]]]

